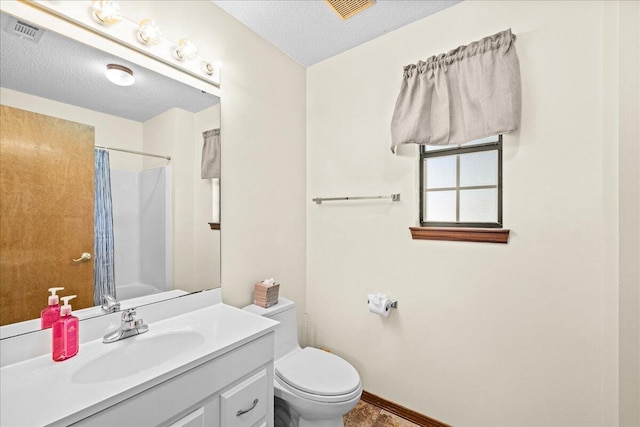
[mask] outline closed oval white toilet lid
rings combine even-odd
[[[340,357],[307,347],[278,362],[276,375],[298,390],[322,396],[348,394],[360,386],[360,375]]]

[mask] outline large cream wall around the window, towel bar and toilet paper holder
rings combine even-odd
[[[604,116],[617,87],[603,45],[618,46],[604,9],[467,1],[308,68],[308,199],[402,194],[307,201],[310,343],[366,390],[456,426],[616,425],[618,144]],[[402,67],[506,28],[523,99],[504,138],[510,241],[412,241],[417,150],[389,149]],[[375,291],[399,301],[388,318],[367,310]]]

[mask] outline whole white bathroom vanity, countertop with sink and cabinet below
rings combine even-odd
[[[0,425],[273,425],[277,322],[219,303],[147,323],[111,344],[81,338],[64,362],[43,354],[3,366]]]

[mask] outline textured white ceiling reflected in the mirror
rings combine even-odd
[[[113,55],[46,31],[39,42],[0,29],[0,85],[119,117],[144,122],[172,107],[197,112],[218,103],[216,96],[184,85]],[[129,67],[133,86],[110,83],[109,63]]]

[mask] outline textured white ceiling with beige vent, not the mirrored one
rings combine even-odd
[[[377,0],[343,21],[322,0],[211,0],[304,66],[432,15],[461,0]]]

